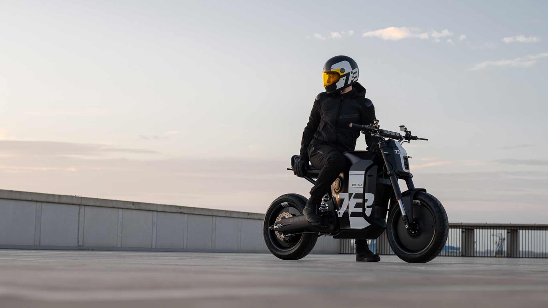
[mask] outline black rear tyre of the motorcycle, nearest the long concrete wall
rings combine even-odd
[[[279,215],[289,213],[292,216],[302,215],[302,209],[306,206],[304,196],[296,193],[287,193],[274,200],[269,209],[266,210],[265,219],[262,221],[262,236],[265,239],[266,247],[277,258],[282,260],[299,260],[304,258],[316,245],[318,235],[314,233],[302,233],[289,238],[289,241],[282,241],[276,233],[269,229]]]

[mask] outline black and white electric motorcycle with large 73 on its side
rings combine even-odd
[[[428,140],[413,136],[404,126],[401,133],[380,129],[379,121],[351,128],[379,138],[378,151],[348,151],[343,155],[349,169],[341,172],[322,198],[322,225],[302,215],[307,198],[296,193],[279,196],[270,204],[263,221],[263,236],[270,252],[283,260],[304,258],[318,236],[376,239],[386,231],[392,251],[408,263],[426,263],[441,252],[449,223],[441,202],[426,189],[415,188],[405,142]],[[382,156],[382,159],[380,158]],[[293,170],[298,155],[291,158]],[[307,166],[304,179],[315,184],[320,170]],[[401,191],[398,179],[407,184]],[[388,214],[388,215],[387,215]]]

